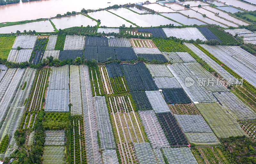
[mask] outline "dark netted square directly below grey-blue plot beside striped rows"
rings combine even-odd
[[[116,47],[117,59],[121,61],[137,60],[137,56],[131,47]]]

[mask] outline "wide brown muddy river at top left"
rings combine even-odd
[[[110,3],[108,3],[110,2]],[[0,22],[16,22],[38,18],[50,18],[67,11],[81,11],[85,9],[99,9],[114,4],[136,3],[138,0],[40,0],[18,4],[0,6]]]

